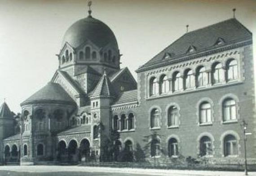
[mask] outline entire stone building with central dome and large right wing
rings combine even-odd
[[[119,68],[113,32],[90,15],[82,21],[65,34],[51,82],[22,102],[17,123],[22,137],[9,129],[0,138],[6,161],[14,145],[22,146],[18,152],[26,164],[241,159],[243,122],[252,132],[247,155],[256,158],[252,34],[240,22],[230,19],[187,33],[138,68],[136,83],[128,68]],[[95,39],[91,23],[107,36]],[[230,25],[241,26],[230,31],[234,39],[226,37]],[[213,36],[216,26],[222,31],[215,38],[193,39]]]

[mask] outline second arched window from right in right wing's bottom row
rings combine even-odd
[[[212,155],[212,140],[208,136],[200,139],[200,156]]]

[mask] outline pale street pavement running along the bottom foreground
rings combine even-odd
[[[112,173],[112,176],[124,175],[150,175],[150,176],[244,176],[244,172],[224,172],[224,171],[194,171],[194,170],[161,170],[161,169],[139,169],[139,168],[113,168],[113,167],[84,167],[84,166],[0,166],[0,176],[2,172],[84,172],[84,175],[105,175],[102,173]],[[85,174],[88,173],[88,174]],[[89,174],[91,173],[91,174]],[[93,173],[93,174],[92,174]],[[58,174],[56,174],[58,175]],[[73,175],[69,173],[69,175]],[[248,172],[249,176],[256,176],[256,172]]]

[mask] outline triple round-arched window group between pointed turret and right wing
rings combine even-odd
[[[129,113],[127,114],[121,114],[114,115],[112,125],[113,129],[117,131],[127,131],[127,130],[134,130],[134,114]]]

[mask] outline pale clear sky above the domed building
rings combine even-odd
[[[62,37],[88,15],[87,0],[0,0],[0,104],[20,103],[46,85],[58,67]],[[256,0],[92,0],[92,16],[117,38],[121,67],[135,70],[186,31],[236,18],[256,34]],[[253,41],[256,41],[255,35]],[[254,58],[256,44],[254,42]]]

